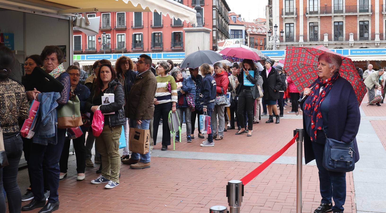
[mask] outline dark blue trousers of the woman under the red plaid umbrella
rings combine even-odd
[[[326,170],[322,164],[324,144],[314,142],[311,144],[319,170],[322,203],[332,203],[331,198],[334,198],[335,205],[332,206],[332,211],[343,211],[343,205],[346,201],[346,173]]]

